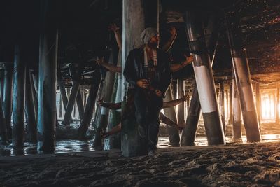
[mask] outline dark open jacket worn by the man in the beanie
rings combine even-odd
[[[155,81],[158,90],[160,90],[162,92],[162,96],[165,97],[165,92],[172,81],[170,62],[169,57],[165,52],[158,49],[157,53],[158,66],[156,68]],[[136,83],[139,79],[146,78],[144,70],[144,48],[135,48],[131,50],[125,62],[123,75],[132,90],[137,88]]]

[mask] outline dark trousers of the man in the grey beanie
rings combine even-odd
[[[134,94],[135,116],[139,125],[138,132],[141,139],[146,142],[147,151],[157,148],[162,102],[162,97],[155,95],[154,91],[147,94],[143,88],[138,88]]]

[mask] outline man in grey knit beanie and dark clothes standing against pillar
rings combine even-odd
[[[148,155],[153,156],[158,144],[159,113],[172,74],[168,55],[158,48],[157,29],[144,29],[141,41],[143,46],[130,51],[123,74],[134,95],[139,136],[146,142]]]

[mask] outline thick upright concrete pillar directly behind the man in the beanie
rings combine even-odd
[[[123,0],[123,53],[122,68],[127,55],[141,45],[140,34],[145,27],[158,28],[158,0]],[[127,85],[122,78],[122,99],[126,102]],[[125,156],[141,155],[146,148],[139,141],[138,125],[132,121],[122,123],[121,150]]]

